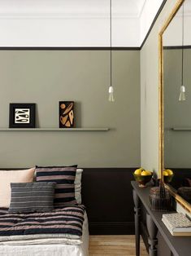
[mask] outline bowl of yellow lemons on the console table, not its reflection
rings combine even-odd
[[[150,182],[150,179],[153,176],[153,173],[150,170],[145,170],[143,168],[139,168],[134,171],[133,176],[137,183],[139,183],[140,188],[145,188],[146,183]]]

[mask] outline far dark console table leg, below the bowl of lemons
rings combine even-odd
[[[133,189],[132,191],[133,201],[135,204],[135,237],[136,237],[136,256],[140,256],[140,199],[137,196],[137,192]]]

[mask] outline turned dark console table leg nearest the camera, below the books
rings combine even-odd
[[[156,236],[157,236],[158,228],[154,224],[154,221],[150,217],[150,214],[146,214],[146,227],[150,235],[148,240],[150,245],[149,254],[150,256],[157,256],[156,245],[158,244],[158,240]]]

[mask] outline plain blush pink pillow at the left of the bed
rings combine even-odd
[[[35,168],[27,170],[0,170],[0,207],[9,208],[11,183],[33,182]]]

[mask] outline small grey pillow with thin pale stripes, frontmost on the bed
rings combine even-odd
[[[11,183],[10,213],[54,210],[55,183]]]

